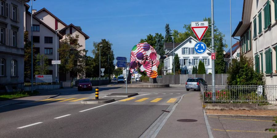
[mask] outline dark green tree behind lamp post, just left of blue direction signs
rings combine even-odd
[[[92,76],[99,77],[99,46],[100,48],[100,58],[101,58],[101,68],[105,68],[104,76],[108,77],[108,74],[112,75],[114,72],[114,51],[112,50],[112,43],[109,40],[102,39],[101,42],[93,42],[94,49],[92,50],[93,58],[93,68]],[[109,55],[109,56],[108,56]],[[109,61],[109,62],[108,62]],[[110,72],[108,72],[110,71]]]

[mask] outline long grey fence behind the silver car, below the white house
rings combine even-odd
[[[147,76],[146,76],[147,77]],[[215,74],[215,85],[227,85],[228,74]],[[186,84],[188,78],[203,78],[208,85],[212,85],[211,74],[180,74],[180,75],[162,75],[157,78],[157,82],[160,84]],[[147,77],[148,79],[148,77]],[[174,82],[173,82],[174,79]],[[142,79],[143,80],[143,79]],[[145,80],[144,82],[148,82]],[[153,79],[149,78],[149,82],[153,83]]]

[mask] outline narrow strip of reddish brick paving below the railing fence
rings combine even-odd
[[[220,110],[206,109],[207,115],[277,116],[277,110]]]

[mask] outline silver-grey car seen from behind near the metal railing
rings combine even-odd
[[[207,82],[202,78],[189,78],[186,82],[186,89],[189,90],[198,90],[200,91],[200,84],[203,86],[208,86]]]

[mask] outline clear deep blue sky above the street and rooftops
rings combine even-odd
[[[27,3],[31,5],[31,2]],[[90,38],[87,55],[92,56],[93,42],[101,39],[113,44],[114,57],[127,57],[140,39],[162,33],[165,25],[184,32],[184,24],[211,17],[211,0],[36,0],[33,9],[46,8],[67,25],[81,26]],[[242,18],[243,0],[232,0],[232,33]],[[31,7],[29,11],[31,10]],[[230,1],[214,0],[215,26],[225,35],[230,48]],[[232,39],[232,44],[237,40]],[[227,51],[229,48],[226,48]],[[114,61],[114,63],[116,60]]]

